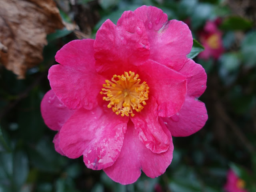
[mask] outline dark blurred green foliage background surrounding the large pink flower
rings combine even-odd
[[[254,0],[56,0],[62,19],[75,24],[47,36],[44,60],[26,79],[0,66],[0,192],[224,192],[232,168],[250,192],[256,192],[256,2]],[[194,45],[188,57],[208,74],[200,97],[208,110],[202,130],[173,138],[172,164],[158,178],[142,176],[122,186],[103,171],[84,166],[54,150],[55,132],[40,114],[50,89],[48,69],[54,56],[74,39],[95,38],[101,24],[116,23],[122,12],[142,5],[161,8],[169,19],[186,22]],[[200,32],[207,21],[220,20],[224,52],[202,59]]]

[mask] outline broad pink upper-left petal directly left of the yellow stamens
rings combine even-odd
[[[98,105],[97,96],[104,78],[96,73],[93,57],[94,40],[74,40],[56,54],[48,79],[58,99],[70,109],[92,109]]]

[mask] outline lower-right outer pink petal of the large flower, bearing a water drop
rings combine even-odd
[[[200,130],[208,119],[203,102],[186,97],[180,111],[170,118],[162,118],[174,137],[184,137]]]

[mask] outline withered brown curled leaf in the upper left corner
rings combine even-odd
[[[63,27],[53,0],[1,0],[0,63],[25,78],[43,59],[46,35]]]

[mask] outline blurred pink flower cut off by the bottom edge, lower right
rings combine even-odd
[[[227,182],[224,186],[226,192],[247,192],[244,187],[244,180],[238,178],[234,171],[229,170],[227,174]]]

